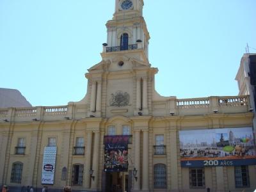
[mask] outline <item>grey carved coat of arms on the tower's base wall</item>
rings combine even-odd
[[[111,94],[110,106],[124,107],[129,104],[130,95],[127,92],[117,91]]]

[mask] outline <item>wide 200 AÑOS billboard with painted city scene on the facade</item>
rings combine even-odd
[[[252,127],[179,131],[182,167],[256,164]]]

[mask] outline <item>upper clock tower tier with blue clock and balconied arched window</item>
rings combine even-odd
[[[142,15],[143,5],[143,0],[115,0],[113,19],[106,24],[108,36],[103,52],[140,49],[140,58],[148,62],[150,36]]]

